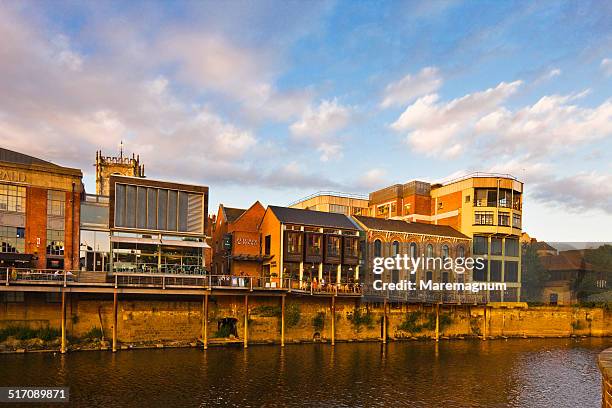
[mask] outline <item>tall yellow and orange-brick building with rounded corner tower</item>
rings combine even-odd
[[[506,174],[474,173],[441,184],[412,181],[370,193],[375,217],[448,225],[472,239],[474,256],[486,269],[474,280],[503,282],[490,301],[518,301],[521,290],[523,183]]]

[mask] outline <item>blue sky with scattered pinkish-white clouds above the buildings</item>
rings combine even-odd
[[[219,203],[474,171],[523,230],[612,241],[612,3],[0,2],[0,146],[140,155]]]

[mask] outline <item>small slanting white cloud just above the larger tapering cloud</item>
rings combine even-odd
[[[416,75],[406,75],[397,82],[392,82],[385,88],[382,108],[404,106],[419,96],[437,91],[442,85],[438,68],[426,67]]]

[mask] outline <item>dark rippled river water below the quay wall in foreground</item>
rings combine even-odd
[[[0,385],[67,385],[71,405],[91,407],[598,408],[596,358],[610,346],[510,339],[3,354]]]

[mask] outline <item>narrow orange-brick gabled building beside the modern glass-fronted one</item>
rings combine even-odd
[[[247,210],[219,205],[213,233],[213,274],[261,276],[264,257],[259,225],[265,212],[259,201]]]

